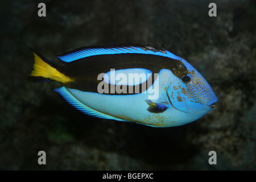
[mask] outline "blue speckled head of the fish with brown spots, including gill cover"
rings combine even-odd
[[[217,98],[207,81],[195,69],[184,76],[190,78],[188,82],[174,76],[167,90],[167,96],[172,106],[184,113],[199,113],[200,110],[209,110],[208,106],[216,102]]]

